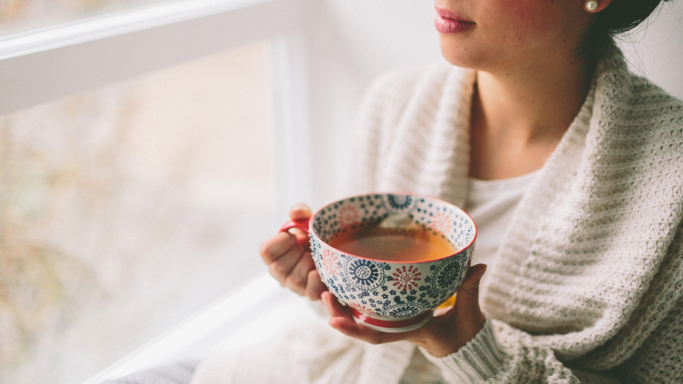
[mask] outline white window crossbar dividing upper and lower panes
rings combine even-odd
[[[296,33],[305,3],[187,0],[10,36],[0,41],[0,115]]]

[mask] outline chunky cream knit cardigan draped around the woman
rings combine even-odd
[[[474,83],[475,72],[447,64],[374,81],[356,191],[463,206]],[[481,292],[484,329],[449,356],[421,352],[448,383],[683,383],[682,219],[683,102],[630,74],[611,46],[501,234]],[[331,353],[311,341],[308,360],[288,361],[314,366],[292,382],[398,383],[416,348],[348,343]]]

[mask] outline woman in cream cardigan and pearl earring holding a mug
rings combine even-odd
[[[415,331],[367,329],[303,234],[277,234],[260,250],[270,273],[322,299],[332,329],[212,355],[192,382],[682,382],[683,102],[630,74],[611,39],[659,3],[436,0],[451,65],[370,87],[354,192],[471,212],[479,264],[456,305]]]

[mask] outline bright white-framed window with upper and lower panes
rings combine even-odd
[[[297,2],[148,3],[0,39],[0,381],[87,379],[253,281],[306,194]]]

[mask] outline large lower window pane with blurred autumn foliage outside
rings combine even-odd
[[[0,117],[0,382],[77,383],[265,271],[267,51]]]

